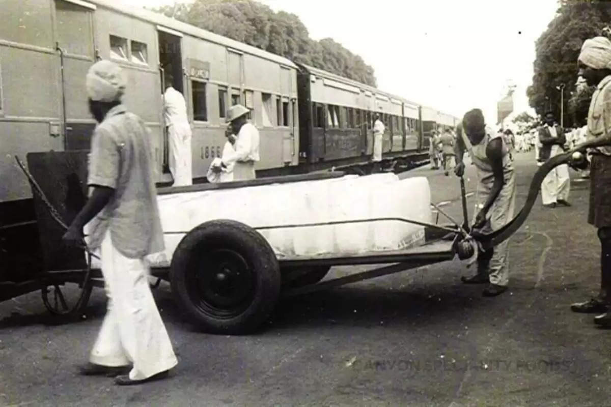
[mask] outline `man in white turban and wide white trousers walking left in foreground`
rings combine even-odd
[[[125,78],[112,62],[87,73],[93,132],[87,184],[90,198],[64,234],[100,249],[108,311],[84,375],[115,375],[117,384],[167,376],[178,363],[148,285],[144,257],[164,250],[153,179],[150,135],[141,118],[121,104]],[[131,365],[131,366],[130,366]],[[127,374],[122,374],[127,373]]]

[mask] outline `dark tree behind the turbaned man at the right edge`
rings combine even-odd
[[[579,125],[587,117],[592,90],[576,91],[577,57],[587,38],[604,35],[611,7],[609,2],[595,0],[560,0],[558,4],[554,20],[536,41],[533,84],[527,96],[538,114],[552,110],[560,118],[557,87],[564,84],[564,124]]]

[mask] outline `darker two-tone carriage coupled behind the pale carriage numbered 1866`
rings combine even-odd
[[[318,68],[298,66],[299,156],[305,171],[349,170],[368,162],[373,153],[374,113],[386,127],[385,159],[417,151],[422,134],[417,104]]]

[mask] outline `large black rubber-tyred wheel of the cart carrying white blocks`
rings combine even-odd
[[[280,267],[259,232],[233,220],[212,220],[178,243],[170,284],[197,325],[212,333],[245,334],[274,310]]]

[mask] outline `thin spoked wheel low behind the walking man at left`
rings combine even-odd
[[[53,315],[70,315],[82,312],[87,303],[93,285],[76,283],[53,284],[43,287],[40,294],[46,309]]]

